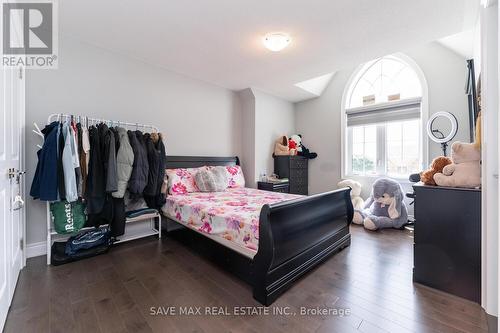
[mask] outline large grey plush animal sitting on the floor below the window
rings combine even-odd
[[[363,210],[355,210],[352,222],[362,224],[368,230],[401,228],[408,222],[401,185],[389,178],[375,181],[370,198]]]

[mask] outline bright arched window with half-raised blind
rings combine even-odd
[[[346,87],[345,174],[406,178],[421,170],[422,79],[390,55],[357,70]]]

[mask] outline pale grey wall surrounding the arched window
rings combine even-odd
[[[429,43],[404,52],[422,69],[429,91],[429,113],[449,111],[459,121],[455,140],[468,141],[468,108],[464,93],[466,62],[438,43]],[[319,98],[297,103],[296,127],[306,145],[319,157],[312,160],[309,191],[319,193],[336,188],[341,178],[341,103],[344,88],[355,69],[338,71]],[[422,129],[422,135],[425,134]],[[442,154],[439,145],[429,143],[429,161]],[[363,182],[363,197],[369,195],[373,179]],[[409,185],[404,186],[410,190]]]

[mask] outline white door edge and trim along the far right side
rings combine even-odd
[[[499,61],[498,4],[481,7],[481,114],[482,127],[482,306],[498,316],[499,301]]]

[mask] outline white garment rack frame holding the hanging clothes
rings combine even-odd
[[[121,126],[124,128],[128,129],[144,129],[144,130],[151,130],[152,132],[158,132],[158,127],[153,126],[153,125],[144,125],[144,124],[139,124],[139,123],[130,123],[130,122],[124,122],[124,121],[116,121],[116,120],[109,120],[109,119],[100,119],[100,118],[90,118],[86,116],[75,116],[71,114],[51,114],[48,119],[47,123],[50,124],[53,121],[60,121],[63,122],[65,120],[74,120],[75,122],[81,122],[82,124],[85,124],[86,126],[91,126],[91,125],[97,125],[100,123],[105,123],[109,126]],[[161,215],[160,212],[156,212],[154,214],[145,214],[144,216],[138,216],[134,218],[127,218],[125,220],[126,224],[129,223],[135,223],[135,222],[145,222],[149,221],[149,226],[151,230],[148,230],[146,232],[141,232],[137,234],[132,234],[132,235],[123,235],[120,237],[119,240],[115,241],[114,244],[118,243],[123,243],[127,241],[131,241],[134,239],[139,239],[143,237],[148,237],[148,236],[153,236],[153,235],[158,235],[158,239],[161,239]],[[156,228],[155,222],[158,222],[158,227]],[[65,240],[71,237],[72,235],[77,234],[80,231],[83,230],[90,230],[93,229],[94,227],[86,227],[80,229],[78,232],[75,232],[73,234],[58,234],[54,230],[54,221],[52,218],[52,214],[50,213],[50,203],[47,202],[47,265],[50,265],[51,262],[51,248],[52,244],[56,240]]]

